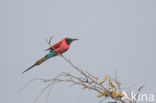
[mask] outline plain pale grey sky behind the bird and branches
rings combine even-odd
[[[22,74],[48,48],[44,39],[79,38],[64,55],[94,75],[118,77],[125,87],[146,84],[156,93],[155,0],[0,0],[0,103],[33,103],[43,87],[36,77],[53,78],[74,72],[62,58],[50,59]],[[49,103],[76,103],[80,87],[56,84]],[[80,103],[97,103],[97,93],[86,91]],[[43,95],[37,103],[44,103]]]

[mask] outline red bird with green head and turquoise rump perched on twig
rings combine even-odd
[[[64,38],[60,42],[58,42],[55,45],[51,46],[50,48],[47,49],[47,50],[50,50],[50,52],[47,55],[45,55],[43,58],[38,60],[34,65],[32,65],[31,67],[29,67],[28,69],[23,71],[23,73],[30,70],[34,66],[39,66],[41,63],[45,62],[49,58],[52,58],[52,57],[57,56],[59,54],[63,54],[64,52],[66,52],[70,48],[70,44],[75,40],[78,40],[78,39]]]

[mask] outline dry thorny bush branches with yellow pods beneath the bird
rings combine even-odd
[[[52,37],[49,39],[49,41],[46,40],[46,42],[50,46],[51,46],[51,40],[52,40]],[[99,103],[104,102],[104,100],[106,100],[108,98],[111,98],[112,101],[115,101],[115,102],[109,102],[109,103],[117,103],[117,102],[137,103],[136,100],[129,99],[129,98],[131,98],[130,92],[129,93],[127,92],[128,95],[125,95],[124,93],[122,93],[123,90],[121,89],[121,83],[118,80],[116,73],[115,73],[115,78],[105,74],[105,78],[102,81],[99,81],[98,77],[90,74],[87,71],[81,70],[80,68],[75,66],[69,59],[64,57],[62,54],[59,54],[59,55],[68,64],[70,64],[73,69],[75,69],[77,71],[77,75],[79,75],[79,76],[76,76],[72,73],[62,72],[62,73],[56,75],[56,77],[52,78],[52,79],[35,78],[35,79],[29,81],[28,83],[26,83],[23,86],[23,88],[21,88],[21,90],[23,90],[28,84],[30,84],[36,80],[40,80],[40,81],[43,81],[43,83],[46,83],[46,87],[41,90],[40,94],[34,100],[34,103],[37,102],[37,100],[39,99],[39,97],[42,95],[42,93],[45,90],[49,89],[48,93],[47,93],[47,98],[45,101],[47,103],[52,87],[54,86],[54,84],[56,84],[58,82],[68,82],[71,84],[71,86],[73,86],[73,85],[81,86],[83,90],[88,89],[88,90],[96,91],[97,93],[99,93],[99,95],[97,95],[97,97],[103,98],[101,101],[99,101]],[[143,88],[143,86],[141,86],[138,89],[136,99],[138,98],[139,92],[141,91],[142,88]],[[124,98],[124,100],[123,100],[123,98]]]

